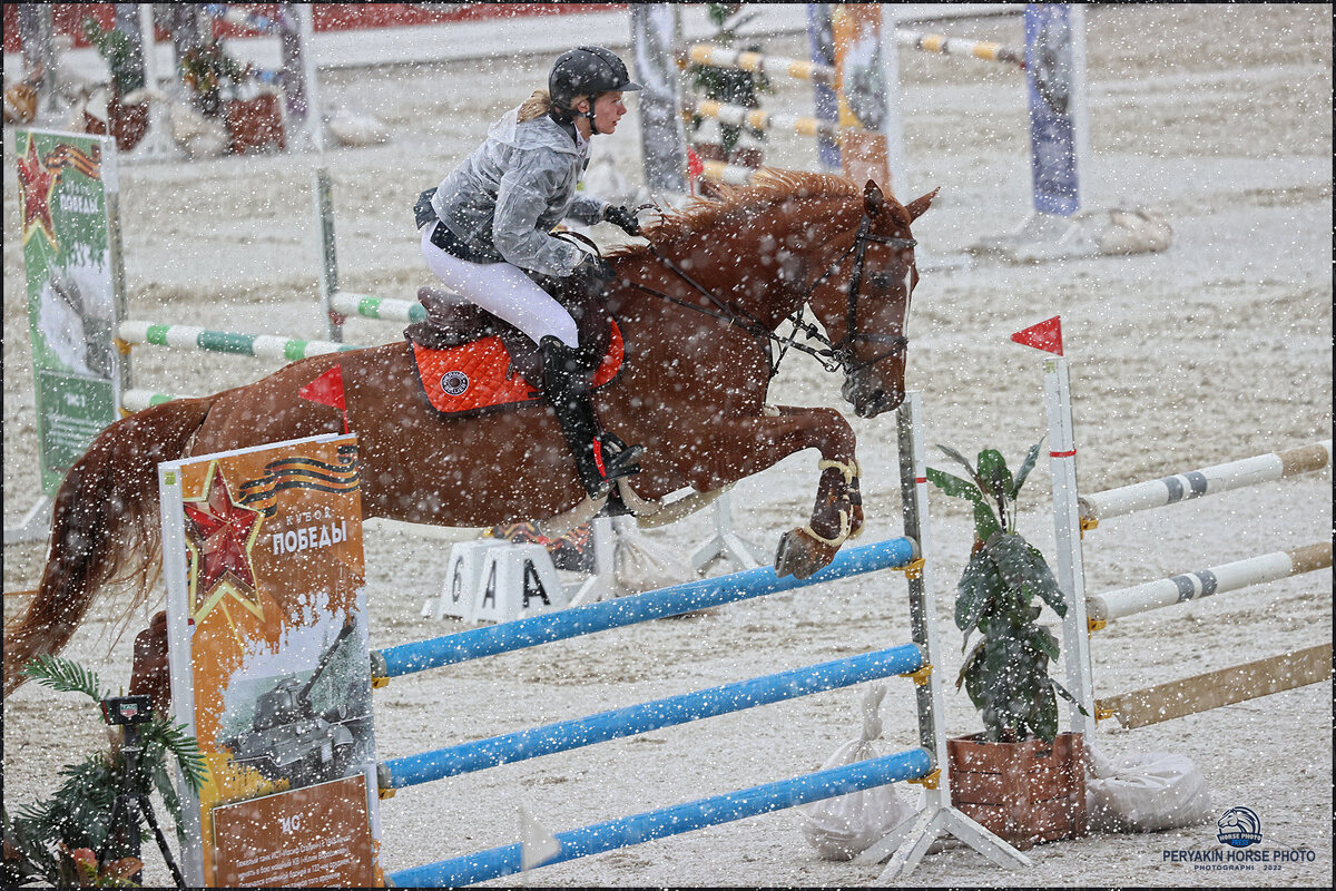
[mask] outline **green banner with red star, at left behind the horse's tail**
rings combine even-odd
[[[112,335],[123,277],[115,142],[16,130],[41,490],[52,496],[116,419]]]

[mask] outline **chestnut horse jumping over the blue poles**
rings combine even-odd
[[[898,407],[918,283],[910,226],[935,195],[902,204],[871,180],[859,188],[828,174],[764,170],[720,199],[661,210],[645,226],[648,244],[609,252],[617,278],[607,301],[624,363],[595,391],[595,409],[611,433],[645,446],[640,473],[620,481],[629,482],[628,505],[649,510],[683,489],[717,492],[815,448],[816,502],[807,524],[782,536],[775,570],[807,577],[858,534],[854,430],[831,407],[767,406],[774,345],[842,369],[856,415]],[[803,321],[804,307],[824,335]],[[796,326],[787,341],[776,334],[786,319]],[[337,365],[346,415],[298,395]],[[442,417],[426,403],[405,342],[311,357],[247,386],[164,402],[108,426],[65,476],[41,581],[5,631],[4,695],[29,660],[68,643],[103,588],[130,586],[127,621],[147,600],[160,572],[160,461],[337,434],[345,423],[357,434],[367,518],[550,528],[603,506],[589,504],[546,405]]]

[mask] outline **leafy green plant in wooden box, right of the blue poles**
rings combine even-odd
[[[1057,696],[1071,696],[1049,677],[1058,641],[1038,624],[1043,608],[1035,597],[1058,616],[1067,608],[1043,554],[1015,530],[1017,494],[1042,442],[1014,476],[994,449],[979,452],[971,465],[941,445],[969,480],[927,472],[933,485],[974,505],[974,546],[957,585],[955,625],[963,648],[975,631],[979,639],[957,689],[965,687],[985,729],[947,740],[951,800],[1021,848],[1086,832],[1083,741],[1079,733],[1058,733]]]

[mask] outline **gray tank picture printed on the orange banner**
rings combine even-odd
[[[353,622],[343,625],[306,683],[285,677],[261,693],[250,729],[222,740],[235,764],[254,768],[269,780],[287,780],[291,788],[337,780],[347,772],[357,740],[345,727],[350,717],[346,705],[317,712],[311,688],[353,631]]]

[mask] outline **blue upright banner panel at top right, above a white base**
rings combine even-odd
[[[1034,208],[1061,216],[1081,208],[1077,159],[1082,152],[1075,112],[1085,100],[1081,96],[1085,61],[1077,53],[1085,45],[1085,36],[1079,25],[1071,4],[1025,7]]]

